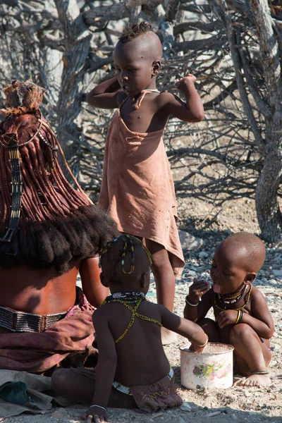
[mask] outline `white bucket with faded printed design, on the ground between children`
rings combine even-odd
[[[181,385],[189,389],[230,388],[233,385],[232,345],[208,343],[203,353],[180,347]]]

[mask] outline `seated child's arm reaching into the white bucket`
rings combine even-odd
[[[158,307],[161,311],[161,324],[166,329],[188,338],[193,345],[193,350],[202,351],[202,345],[207,344],[207,335],[202,328],[192,321],[176,316],[163,305],[158,305]]]

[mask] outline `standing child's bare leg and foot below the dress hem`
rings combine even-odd
[[[163,245],[155,243],[152,240],[146,239],[146,246],[152,254],[152,272],[154,274],[154,281],[156,282],[158,304],[164,305],[164,307],[173,312],[176,280],[171,262],[169,261],[168,252]],[[173,343],[176,339],[176,333],[168,331],[164,327],[161,328],[161,341],[163,345]]]

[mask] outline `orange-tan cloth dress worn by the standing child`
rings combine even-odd
[[[185,262],[163,133],[134,133],[117,111],[106,138],[98,207],[107,210],[119,231],[164,245],[180,277]]]

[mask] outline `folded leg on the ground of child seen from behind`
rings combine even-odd
[[[90,370],[90,377],[85,374],[75,372],[75,369],[57,369],[52,374],[52,390],[59,396],[67,396],[71,400],[78,403],[92,405],[95,392],[95,380],[93,379],[93,371]],[[132,396],[111,389],[109,398],[109,407],[113,408],[136,408],[135,400]]]

